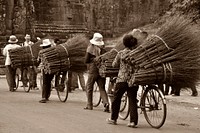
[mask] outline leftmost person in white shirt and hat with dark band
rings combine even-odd
[[[9,55],[9,50],[10,49],[15,49],[19,48],[20,45],[17,45],[16,43],[18,42],[18,39],[16,36],[11,35],[6,47],[3,49],[3,55],[6,56],[5,60],[5,66],[6,66],[6,79],[9,85],[9,90],[11,92],[14,91],[14,88],[16,87],[16,82],[15,82],[15,74],[16,74],[16,68],[13,68],[11,66],[11,59]]]

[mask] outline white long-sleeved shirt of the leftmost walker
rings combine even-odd
[[[5,65],[11,65],[11,59],[10,59],[10,55],[9,55],[9,50],[10,49],[15,49],[15,48],[19,48],[21,46],[17,45],[17,44],[7,44],[6,47],[3,49],[3,55],[6,56],[6,60],[5,60]]]

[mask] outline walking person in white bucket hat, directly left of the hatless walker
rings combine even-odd
[[[104,104],[104,112],[109,112],[108,95],[105,91],[106,79],[99,75],[99,70],[94,61],[95,57],[98,57],[101,54],[103,54],[103,36],[100,33],[94,33],[93,38],[90,40],[90,43],[91,44],[89,44],[87,48],[85,58],[85,63],[88,65],[88,80],[86,83],[87,106],[84,109],[93,109],[93,86],[94,83],[97,82],[99,86],[100,95]]]

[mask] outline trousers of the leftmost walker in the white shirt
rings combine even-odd
[[[6,65],[6,79],[10,90],[16,87],[15,74],[16,68]]]

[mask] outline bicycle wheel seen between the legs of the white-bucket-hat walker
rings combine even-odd
[[[99,106],[100,103],[101,103],[101,96],[99,92],[99,87],[97,83],[95,83],[93,88],[93,107]]]

